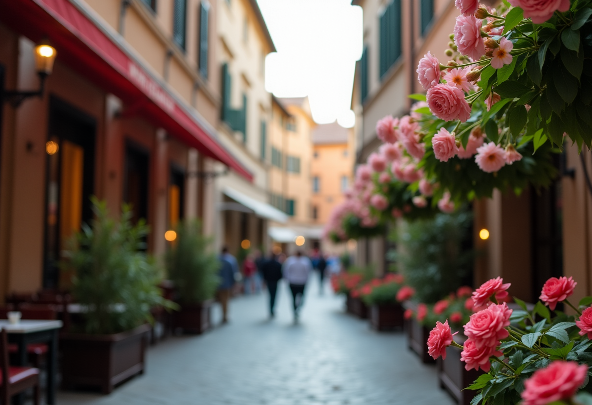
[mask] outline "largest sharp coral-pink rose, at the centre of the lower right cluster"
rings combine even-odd
[[[465,336],[475,342],[478,348],[496,346],[498,341],[506,339],[509,332],[512,310],[506,303],[491,306],[472,314],[469,322],[464,326]]]

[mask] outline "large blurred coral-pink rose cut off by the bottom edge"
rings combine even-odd
[[[546,405],[569,400],[588,374],[588,366],[574,361],[554,361],[549,367],[538,369],[525,381],[523,405]],[[571,401],[570,401],[571,403]]]

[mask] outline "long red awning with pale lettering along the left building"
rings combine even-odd
[[[182,104],[69,0],[2,2],[0,21],[32,41],[49,38],[57,57],[121,98],[155,126],[252,181],[253,175]]]

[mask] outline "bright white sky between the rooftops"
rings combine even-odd
[[[352,127],[362,8],[351,0],[257,1],[278,51],[265,61],[266,89],[276,97],[308,96],[318,124]]]

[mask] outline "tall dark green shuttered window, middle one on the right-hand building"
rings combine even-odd
[[[380,16],[380,77],[401,56],[401,0],[392,0]]]

